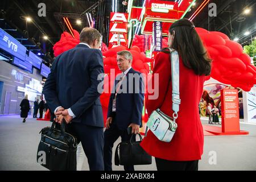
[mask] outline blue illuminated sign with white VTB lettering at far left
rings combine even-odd
[[[26,56],[26,47],[14,39],[7,32],[0,28],[0,48],[10,53],[11,55],[18,57],[20,60],[24,61]]]

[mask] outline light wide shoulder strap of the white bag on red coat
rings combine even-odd
[[[179,53],[174,49],[170,50],[171,57],[171,72],[172,72],[172,110],[174,111],[174,119],[177,119],[177,112],[180,105],[180,67],[179,67]]]

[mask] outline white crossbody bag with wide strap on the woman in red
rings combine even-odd
[[[147,129],[150,129],[152,133],[163,142],[171,142],[177,129],[177,123],[175,120],[178,115],[180,105],[180,92],[179,92],[179,54],[177,51],[168,48],[170,50],[171,57],[171,72],[172,72],[172,110],[174,114],[173,118],[164,114],[160,109],[154,110],[150,118],[147,121],[147,128],[145,137],[147,135]]]

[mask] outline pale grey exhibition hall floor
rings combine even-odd
[[[205,120],[202,122],[207,123]],[[36,121],[31,117],[22,123],[18,115],[1,116],[0,170],[47,170],[36,163],[36,152],[39,131],[50,125],[51,122]],[[241,123],[240,126],[241,130],[249,131],[249,135],[204,137],[204,154],[199,162],[199,170],[256,170],[256,125]],[[119,142],[121,139],[115,143],[114,150]],[[216,164],[212,164],[214,154]],[[89,170],[86,161],[82,169]],[[123,167],[113,166],[113,170],[123,170]],[[156,170],[155,160],[151,165],[135,166],[135,170]]]

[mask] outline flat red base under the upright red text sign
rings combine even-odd
[[[248,135],[248,131],[234,131],[234,132],[222,132],[221,127],[217,126],[209,126],[209,125],[203,125],[204,135],[210,136],[210,135]]]

